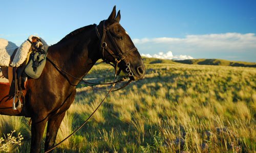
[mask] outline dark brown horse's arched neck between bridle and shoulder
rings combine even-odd
[[[82,38],[74,36],[49,49],[49,58],[54,59],[56,65],[79,79],[82,79],[100,59],[98,39],[92,33],[88,33],[88,36],[83,35]]]

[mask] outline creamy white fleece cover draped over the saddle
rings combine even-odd
[[[30,35],[29,40],[32,41],[32,37],[37,37]],[[47,43],[40,37],[37,37],[41,40],[43,45],[47,45]],[[18,67],[20,66],[27,58],[29,49],[31,48],[31,43],[28,40],[25,40],[22,45],[18,47],[18,50],[14,56],[12,63],[10,64],[11,56],[14,50],[17,48],[15,43],[10,42],[6,39],[0,38],[0,67],[1,66],[12,66]]]

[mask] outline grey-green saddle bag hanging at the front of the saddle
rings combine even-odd
[[[33,78],[37,79],[40,77],[42,70],[46,65],[46,56],[49,46],[43,45],[40,47],[42,52],[34,52],[30,54],[29,62],[25,68],[25,73]]]

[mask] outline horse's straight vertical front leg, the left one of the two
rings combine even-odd
[[[47,118],[39,120],[32,118],[32,124],[31,124],[31,146],[30,146],[30,152],[40,152],[41,151],[41,141],[42,141],[42,135],[45,131]]]

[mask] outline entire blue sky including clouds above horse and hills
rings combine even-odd
[[[121,10],[121,25],[144,56],[256,62],[256,1],[1,1],[0,37],[54,44]]]

